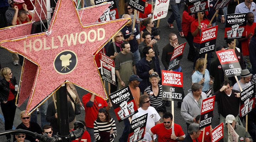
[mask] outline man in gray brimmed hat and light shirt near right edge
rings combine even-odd
[[[250,73],[250,71],[248,69],[242,70],[240,76],[241,76],[241,79],[239,80],[239,83],[243,90],[246,89],[247,87],[251,86],[252,74]],[[233,89],[237,90],[237,91],[242,91],[239,89],[237,82],[234,84]]]

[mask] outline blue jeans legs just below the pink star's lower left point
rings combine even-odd
[[[41,114],[41,127],[43,128],[44,125],[48,124],[49,122],[46,121],[46,111],[48,108],[48,101],[44,102],[40,107],[40,114]],[[32,114],[31,114],[31,122],[36,122],[37,123],[37,111],[35,110]]]

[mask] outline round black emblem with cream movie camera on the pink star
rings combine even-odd
[[[77,61],[77,56],[73,51],[65,50],[55,57],[53,66],[58,73],[68,74],[75,69]]]

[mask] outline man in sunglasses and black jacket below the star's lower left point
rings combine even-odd
[[[20,125],[17,126],[16,129],[28,130],[28,131],[37,132],[37,133],[43,133],[41,127],[36,122],[30,121],[30,115],[27,115],[25,110],[21,111],[20,117],[21,117],[22,122]],[[30,135],[27,135],[25,139],[30,142],[37,142],[36,139]],[[16,140],[16,136],[14,137],[14,141],[15,140]]]

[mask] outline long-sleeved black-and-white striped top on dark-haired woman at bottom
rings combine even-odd
[[[116,131],[116,123],[113,118],[111,118],[110,122],[102,122],[100,120],[95,120],[94,121],[94,137],[96,141],[100,140],[100,133],[99,132],[110,132],[111,129],[113,129],[112,136],[110,137],[110,142],[113,142],[116,136],[117,136],[117,131]]]

